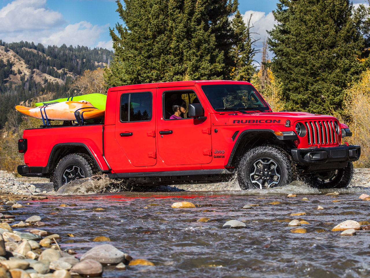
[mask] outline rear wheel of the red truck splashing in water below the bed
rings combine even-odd
[[[67,175],[68,173],[71,174]],[[91,156],[85,153],[66,155],[59,160],[57,167],[55,167],[53,175],[54,190],[58,191],[67,182],[80,178],[88,178],[97,175],[97,173],[98,169]]]

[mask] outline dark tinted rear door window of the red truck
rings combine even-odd
[[[152,119],[152,93],[131,93],[121,96],[121,122],[142,122]]]

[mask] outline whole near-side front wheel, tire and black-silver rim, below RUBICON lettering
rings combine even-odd
[[[249,150],[238,166],[241,189],[284,186],[295,179],[295,164],[285,150],[276,146],[259,146]]]

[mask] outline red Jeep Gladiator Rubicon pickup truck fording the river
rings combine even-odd
[[[179,101],[186,111],[170,119]],[[361,150],[342,144],[345,136],[348,126],[332,116],[272,112],[248,82],[129,85],[108,90],[102,120],[24,130],[18,172],[50,178],[55,190],[97,173],[147,185],[226,181],[237,172],[242,189],[297,178],[345,187]]]

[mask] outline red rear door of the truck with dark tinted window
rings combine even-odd
[[[155,89],[118,93],[117,102],[120,111],[115,139],[122,152],[135,167],[155,165]]]

